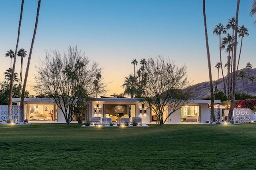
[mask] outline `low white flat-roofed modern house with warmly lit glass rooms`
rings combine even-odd
[[[12,102],[20,105],[20,98],[13,98]],[[210,100],[188,100],[181,109],[178,109],[166,123],[180,122],[206,122],[210,120]],[[219,100],[214,103],[220,103]],[[65,122],[64,115],[57,107],[54,99],[25,98],[24,99],[24,119],[30,121],[58,121]],[[139,99],[131,98],[96,98],[94,101],[85,103],[82,113],[84,120],[91,117],[112,118],[112,122],[120,121],[120,118],[141,117],[142,123],[156,123],[154,111],[140,102]],[[168,109],[164,112],[163,118],[168,116]],[[76,117],[73,119],[76,121]]]

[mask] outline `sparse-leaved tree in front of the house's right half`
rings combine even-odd
[[[147,107],[156,113],[160,125],[168,120],[176,110],[180,109],[191,97],[189,81],[186,74],[186,65],[178,68],[170,58],[165,59],[160,55],[148,59],[145,65],[147,83],[139,86]],[[163,115],[168,111],[167,115]]]

